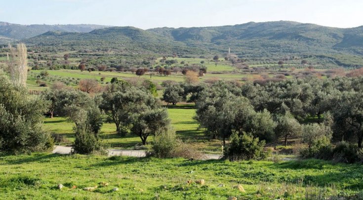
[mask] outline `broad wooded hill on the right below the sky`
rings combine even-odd
[[[164,35],[188,46],[207,48],[242,56],[281,54],[322,54],[339,51],[363,54],[363,29],[339,29],[314,24],[279,21],[235,26],[156,28]]]

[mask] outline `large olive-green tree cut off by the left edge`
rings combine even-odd
[[[30,153],[53,147],[50,135],[42,129],[42,114],[48,103],[28,95],[0,74],[0,151]]]

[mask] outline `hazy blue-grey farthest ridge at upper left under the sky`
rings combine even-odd
[[[26,39],[40,35],[48,31],[80,32],[88,33],[95,29],[102,29],[110,26],[78,24],[78,25],[20,25],[0,22],[0,36],[12,39]]]

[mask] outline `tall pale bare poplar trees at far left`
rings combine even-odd
[[[8,70],[10,78],[15,84],[26,86],[28,76],[27,47],[24,43],[19,43],[15,49],[9,44],[9,49]]]

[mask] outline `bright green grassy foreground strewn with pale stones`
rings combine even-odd
[[[204,179],[205,185],[187,184]],[[306,199],[363,195],[363,167],[33,154],[0,157],[0,199]],[[108,186],[99,186],[99,182]],[[64,185],[58,190],[57,184]],[[218,185],[224,184],[224,187]],[[242,184],[245,193],[233,186]],[[98,185],[93,192],[84,187]],[[119,191],[112,192],[118,187]]]

